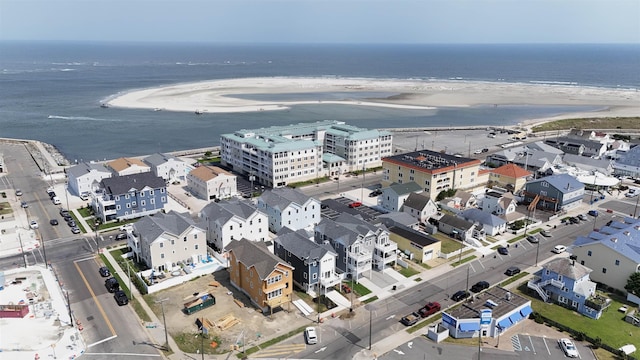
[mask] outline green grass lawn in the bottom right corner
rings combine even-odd
[[[625,322],[624,314],[618,311],[618,308],[624,305],[623,303],[612,299],[611,306],[603,312],[602,317],[593,320],[559,305],[544,303],[536,297],[523,294],[524,289],[526,284],[518,287],[521,295],[531,299],[533,310],[541,315],[583,332],[588,337],[599,337],[603,344],[615,349],[626,344],[633,344],[636,348],[640,348],[640,328]]]

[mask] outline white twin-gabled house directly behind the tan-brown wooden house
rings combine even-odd
[[[269,239],[269,218],[249,201],[209,203],[200,211],[200,218],[207,231],[207,243],[219,252],[223,252],[232,240]]]

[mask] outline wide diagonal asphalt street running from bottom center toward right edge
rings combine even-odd
[[[604,213],[597,218],[598,224],[605,224],[614,214]],[[375,303],[376,310],[372,313],[371,337],[372,342],[383,340],[386,337],[404,331],[405,326],[400,324],[402,316],[418,310],[429,301],[438,301],[443,308],[451,306],[454,302],[449,296],[457,290],[465,289],[477,281],[485,280],[490,284],[499,283],[508,276],[504,271],[510,266],[518,266],[525,270],[536,265],[536,252],[538,262],[551,256],[557,256],[551,250],[557,244],[569,246],[576,237],[587,235],[593,229],[593,220],[571,225],[559,225],[556,229],[547,227],[552,236],[543,238],[540,236],[538,245],[521,240],[511,244],[509,254],[485,256],[471,261],[446,275],[423,281],[414,287],[401,291],[390,298]],[[563,256],[566,256],[564,254]],[[353,356],[369,346],[369,316],[364,308],[358,308],[354,318],[341,322],[327,323],[318,327],[321,331],[321,342],[314,346],[308,346],[304,351],[296,354],[300,358],[310,359],[351,359]],[[295,341],[292,340],[292,341]],[[299,341],[299,339],[298,339]],[[322,351],[322,348],[324,348]],[[466,348],[467,357],[468,349]],[[446,358],[446,357],[444,357]]]

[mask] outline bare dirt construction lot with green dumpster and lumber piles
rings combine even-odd
[[[210,286],[209,284],[217,281],[220,286]],[[200,310],[191,315],[182,312],[184,303],[193,298],[194,293],[204,294],[210,292],[216,298],[216,304]],[[231,293],[231,294],[229,294]],[[162,309],[156,301],[167,299],[164,301],[164,310],[167,320],[167,328],[169,333],[176,337],[180,334],[195,334],[198,328],[195,321],[198,318],[205,318],[211,321],[215,326],[231,325],[226,329],[214,327],[211,331],[214,337],[218,337],[221,341],[220,349],[226,350],[235,344],[241,337],[244,330],[244,339],[246,345],[262,343],[272,337],[280,336],[290,330],[311,324],[315,320],[314,315],[310,315],[309,319],[302,316],[293,304],[288,308],[285,305],[284,310],[270,314],[261,313],[251,304],[249,298],[236,290],[229,282],[229,274],[226,270],[218,271],[213,275],[207,275],[189,281],[180,286],[161,291],[159,293],[146,295],[147,303],[162,320]],[[238,305],[234,300],[242,304]],[[226,321],[223,318],[227,317]],[[231,318],[238,320],[234,321]],[[242,340],[240,338],[240,340]],[[302,337],[300,338],[302,342]]]

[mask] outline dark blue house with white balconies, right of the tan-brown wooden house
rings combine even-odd
[[[340,283],[335,271],[338,255],[331,246],[309,239],[305,230],[284,228],[274,243],[274,254],[295,268],[293,283],[305,292],[321,294]]]

